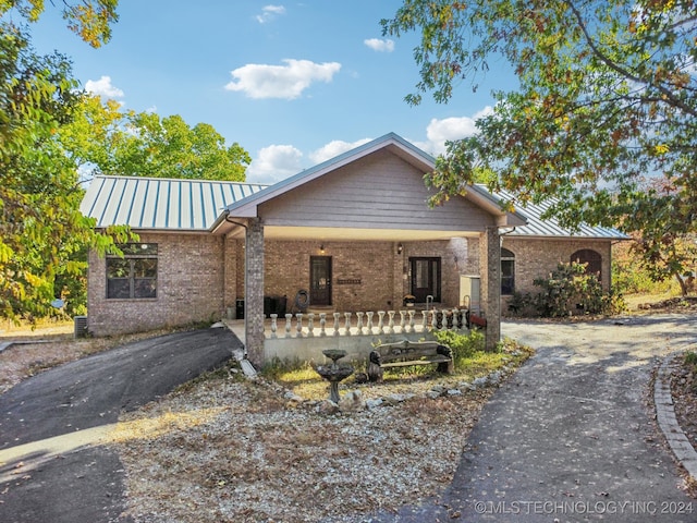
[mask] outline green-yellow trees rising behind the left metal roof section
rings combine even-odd
[[[118,102],[93,96],[83,98],[60,141],[76,162],[102,174],[244,181],[252,161],[237,143],[228,147],[212,125],[121,112]]]

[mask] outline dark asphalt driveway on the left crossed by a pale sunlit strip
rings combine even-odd
[[[241,346],[225,328],[138,341],[47,370],[0,394],[0,521],[127,522],[118,454],[93,446],[132,411]]]

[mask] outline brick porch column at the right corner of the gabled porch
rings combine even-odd
[[[501,339],[501,245],[498,227],[487,227],[479,235],[481,303],[487,319],[487,351]]]

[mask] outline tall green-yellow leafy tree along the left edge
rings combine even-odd
[[[73,31],[98,47],[115,20],[112,0],[87,0],[65,16]],[[57,147],[54,135],[78,105],[70,62],[54,53],[35,54],[15,10],[28,22],[38,19],[39,0],[0,2],[0,317],[33,319],[50,309],[53,281],[78,273],[84,263],[70,262],[78,244],[118,252],[115,242],[132,238],[123,228],[106,234],[78,210],[82,199],[74,163]]]

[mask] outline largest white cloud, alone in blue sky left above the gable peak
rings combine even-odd
[[[314,82],[331,82],[341,64],[315,63],[309,60],[283,60],[285,65],[249,63],[231,71],[233,82],[228,90],[241,90],[249,98],[295,99]]]

